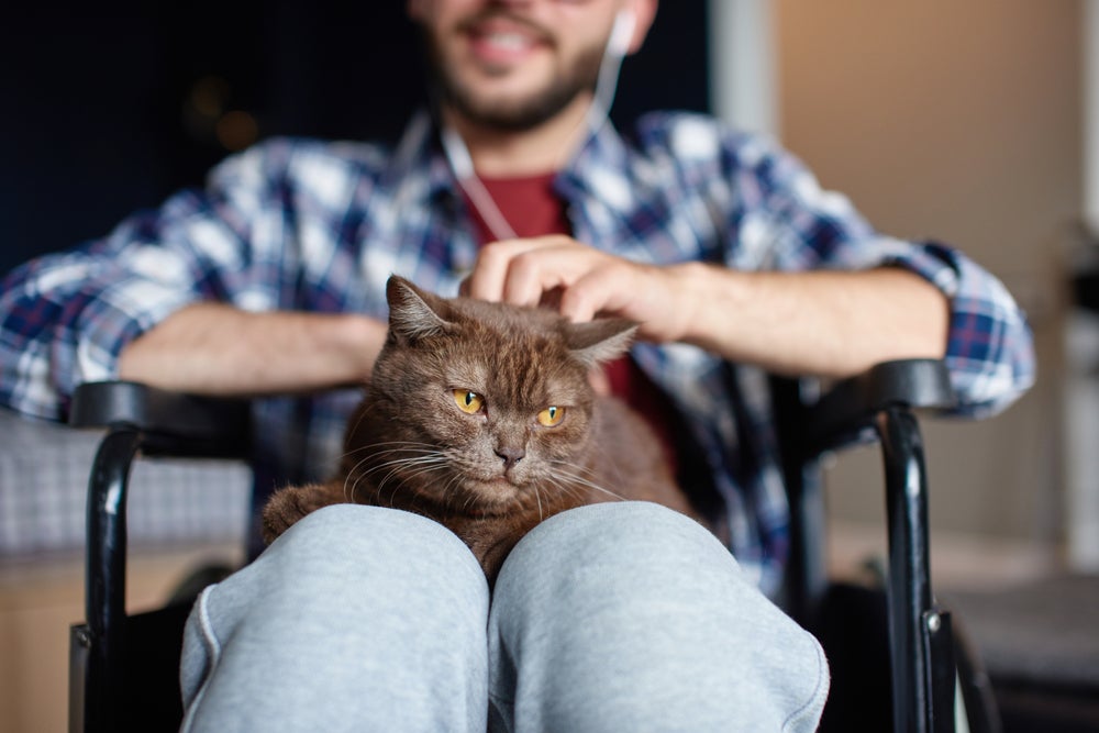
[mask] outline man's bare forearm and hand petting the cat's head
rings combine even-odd
[[[942,357],[946,297],[912,273],[741,273],[631,263],[562,236],[485,248],[466,285],[486,300],[535,304],[558,291],[576,321],[613,314],[641,337],[690,343],[785,374],[848,376],[893,358]]]

